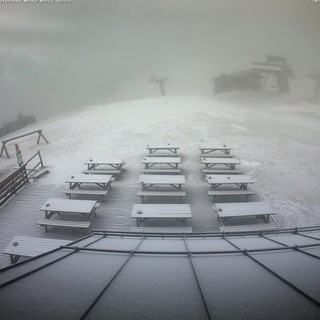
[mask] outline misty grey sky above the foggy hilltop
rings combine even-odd
[[[212,78],[264,53],[298,76],[320,68],[312,0],[13,2],[0,3],[0,125],[157,96],[152,75],[170,78],[170,95],[212,94]]]

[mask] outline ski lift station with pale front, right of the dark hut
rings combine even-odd
[[[266,91],[289,92],[291,69],[285,57],[265,54],[252,62],[251,69],[262,76],[261,88]]]

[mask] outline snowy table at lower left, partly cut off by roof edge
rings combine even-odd
[[[70,243],[70,240],[15,236],[3,253],[10,255],[11,264],[21,257],[32,258]]]

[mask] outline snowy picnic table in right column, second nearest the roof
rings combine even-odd
[[[208,174],[207,182],[211,185],[211,190],[215,190],[221,185],[235,184],[240,187],[240,190],[246,190],[248,184],[255,183],[251,176],[240,175],[221,175],[221,174]]]

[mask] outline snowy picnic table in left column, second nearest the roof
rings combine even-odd
[[[79,213],[87,215],[87,220],[89,220],[92,214],[95,214],[96,203],[95,200],[50,198],[40,208],[40,211],[45,212],[46,219],[50,219],[56,213]]]

